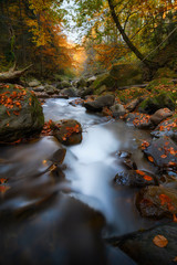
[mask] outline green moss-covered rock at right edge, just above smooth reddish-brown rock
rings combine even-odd
[[[167,92],[162,92],[154,97],[147,97],[140,103],[138,110],[140,113],[152,115],[160,108],[169,108],[170,110],[175,110],[175,102]]]

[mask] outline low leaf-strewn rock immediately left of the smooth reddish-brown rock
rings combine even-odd
[[[153,124],[150,121],[150,116],[139,113],[131,113],[126,116],[126,123],[134,125],[138,129],[150,129]]]

